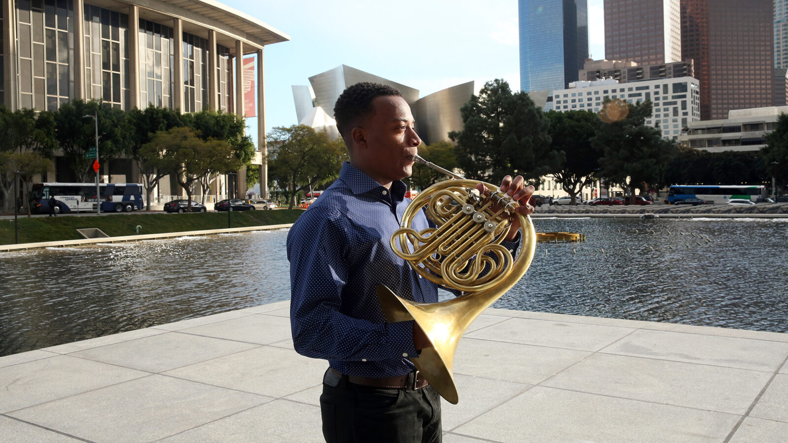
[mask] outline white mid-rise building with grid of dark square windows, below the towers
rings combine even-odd
[[[599,112],[605,97],[629,103],[652,102],[652,116],[646,125],[660,128],[663,138],[678,140],[682,128],[701,119],[701,95],[693,77],[663,78],[635,83],[618,81],[578,81],[563,90],[553,91],[553,109]]]

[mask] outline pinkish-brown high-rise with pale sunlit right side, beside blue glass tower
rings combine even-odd
[[[681,61],[678,0],[604,0],[604,58],[642,65]]]

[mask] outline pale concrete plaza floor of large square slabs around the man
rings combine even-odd
[[[322,441],[279,302],[0,358],[0,441]],[[788,441],[788,334],[489,309],[444,441]]]

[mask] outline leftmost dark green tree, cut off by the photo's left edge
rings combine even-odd
[[[39,160],[51,157],[55,146],[54,116],[51,112],[36,113],[29,109],[11,112],[6,106],[0,106],[0,192],[5,202],[4,210],[13,208],[16,198],[9,198],[13,189],[13,171],[28,171],[38,163],[32,162],[34,157]],[[13,153],[20,156],[10,155]],[[46,173],[46,169],[40,173]],[[32,180],[30,175],[25,177]]]

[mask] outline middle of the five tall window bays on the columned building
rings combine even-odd
[[[173,28],[139,20],[139,100],[145,106],[174,109],[175,34]]]

